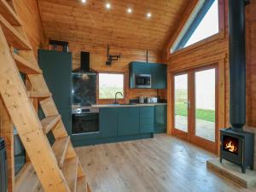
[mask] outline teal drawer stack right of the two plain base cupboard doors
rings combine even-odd
[[[140,108],[140,133],[154,132],[154,107]]]

